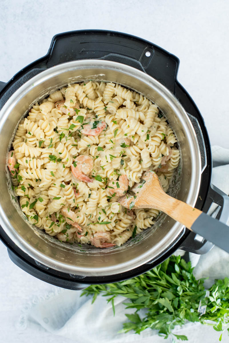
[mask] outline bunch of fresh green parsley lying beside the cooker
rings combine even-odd
[[[216,280],[209,289],[209,298],[205,297],[204,280],[195,279],[191,262],[186,263],[180,256],[171,256],[145,274],[117,283],[91,285],[82,295],[93,294],[92,303],[100,293],[109,296],[107,301],[111,301],[114,315],[114,298],[121,295],[129,299],[124,304],[135,312],[126,315],[129,321],[123,324],[120,332],[134,330],[140,333],[151,328],[158,330],[158,334],[165,338],[172,336],[173,342],[187,341],[186,336],[176,335],[172,330],[188,320],[210,324],[217,331],[227,330],[229,333],[229,279]],[[202,306],[207,306],[203,315],[197,311],[200,300]],[[144,318],[137,313],[140,309],[147,310]],[[206,322],[209,320],[213,323]],[[222,333],[219,341],[221,338]]]

